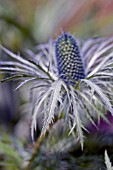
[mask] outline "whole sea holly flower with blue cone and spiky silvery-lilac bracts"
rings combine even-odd
[[[11,74],[1,82],[14,79],[21,81],[17,89],[28,82],[32,89],[37,89],[32,138],[40,114],[44,117],[42,134],[56,116],[62,117],[82,147],[86,122],[95,125],[95,118],[101,117],[109,123],[105,113],[109,111],[113,115],[113,37],[84,42],[63,33],[56,41],[39,45],[38,54],[28,51],[31,55],[28,59],[1,48],[11,60],[0,61],[1,74]]]

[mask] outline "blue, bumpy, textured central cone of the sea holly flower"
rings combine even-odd
[[[77,80],[85,77],[79,48],[73,36],[68,33],[59,36],[55,50],[59,76],[67,84],[75,85]]]

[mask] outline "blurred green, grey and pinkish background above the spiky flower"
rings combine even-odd
[[[56,37],[113,34],[113,0],[0,0],[0,43],[17,51]]]

